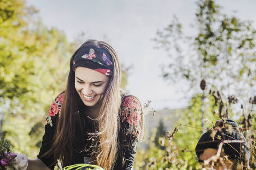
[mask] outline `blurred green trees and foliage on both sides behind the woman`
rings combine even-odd
[[[145,107],[146,140],[138,147],[134,169],[200,169],[194,150],[205,131],[179,126],[171,141],[164,138],[166,132],[172,133],[178,125],[175,122],[211,128],[227,116],[246,129],[244,135],[252,151],[250,165],[256,168],[256,30],[252,21],[226,15],[221,9],[215,1],[197,1],[192,26],[198,32],[193,35],[182,31],[177,16],[156,31],[155,50],[163,50],[170,58],[162,66],[161,77],[166,83],[186,84],[189,89],[183,93],[192,97],[189,106],[180,109]],[[0,1],[1,138],[10,140],[13,152],[29,158],[38,154],[47,111],[65,89],[69,59],[82,43],[68,41],[58,28],[49,29],[35,21],[36,13],[35,7],[21,0]],[[127,72],[124,69],[123,89]]]

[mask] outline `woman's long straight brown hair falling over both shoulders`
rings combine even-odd
[[[105,169],[113,167],[116,160],[119,108],[121,106],[121,94],[119,86],[121,83],[121,67],[115,50],[103,41],[87,40],[81,47],[98,47],[106,49],[113,57],[114,70],[107,86],[105,97],[102,100],[99,117],[95,121],[97,130],[90,133],[93,142],[92,157],[94,164]],[[80,47],[80,48],[81,48]],[[78,48],[79,49],[79,48]],[[53,145],[45,153],[51,155],[54,152],[54,159],[59,159],[62,166],[76,163],[75,152],[79,151],[77,146],[83,146],[83,125],[80,115],[77,114],[81,99],[75,90],[75,72],[73,71],[73,58],[78,49],[71,57],[70,71],[67,80],[63,104],[57,121],[57,129],[54,134]]]

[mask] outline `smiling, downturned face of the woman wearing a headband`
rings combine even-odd
[[[105,95],[109,78],[107,75],[88,69],[76,67],[75,88],[86,106],[94,106]]]

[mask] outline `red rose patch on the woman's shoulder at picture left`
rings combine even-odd
[[[52,121],[53,117],[57,117],[60,114],[61,111],[61,105],[64,100],[64,92],[62,92],[60,95],[58,95],[52,102],[52,105],[47,113],[47,117],[45,120],[45,125],[49,124],[50,126],[53,126]]]

